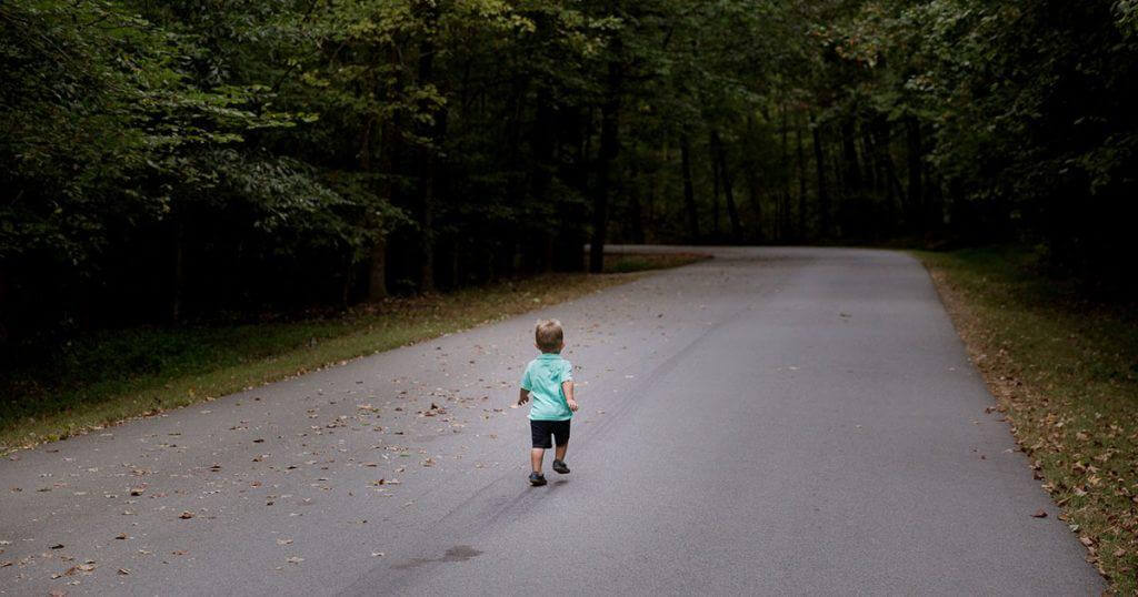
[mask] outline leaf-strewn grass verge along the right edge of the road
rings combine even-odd
[[[1089,298],[1023,248],[916,255],[1061,519],[1138,594],[1138,305]]]

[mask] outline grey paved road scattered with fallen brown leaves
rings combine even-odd
[[[19,453],[0,591],[1100,592],[918,263],[715,254]],[[529,488],[537,316],[583,407],[572,473]]]

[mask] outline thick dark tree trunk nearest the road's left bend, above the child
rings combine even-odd
[[[613,41],[613,52],[619,56],[620,40]],[[612,168],[620,151],[620,96],[624,88],[624,68],[616,59],[609,61],[609,76],[604,102],[601,105],[601,147],[597,159],[596,190],[593,196],[593,239],[588,254],[588,271],[604,271],[604,239],[609,226],[609,192]]]

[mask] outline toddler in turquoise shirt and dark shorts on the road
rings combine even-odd
[[[529,473],[529,483],[544,486],[542,461],[545,450],[554,445],[556,449],[553,453],[553,470],[560,474],[569,473],[569,467],[566,466],[566,448],[569,447],[569,420],[577,411],[577,401],[572,398],[572,365],[561,358],[561,349],[566,346],[561,322],[556,320],[537,322],[534,346],[542,351],[542,356],[530,360],[526,366],[526,373],[521,376],[518,406],[526,404],[530,398],[534,400],[529,407],[529,433],[534,439],[534,448],[529,453],[534,472]],[[550,436],[553,436],[553,442],[550,441]]]

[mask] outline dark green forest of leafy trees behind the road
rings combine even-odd
[[[7,354],[605,243],[1019,242],[1136,288],[1136,0],[9,0],[0,77]]]

